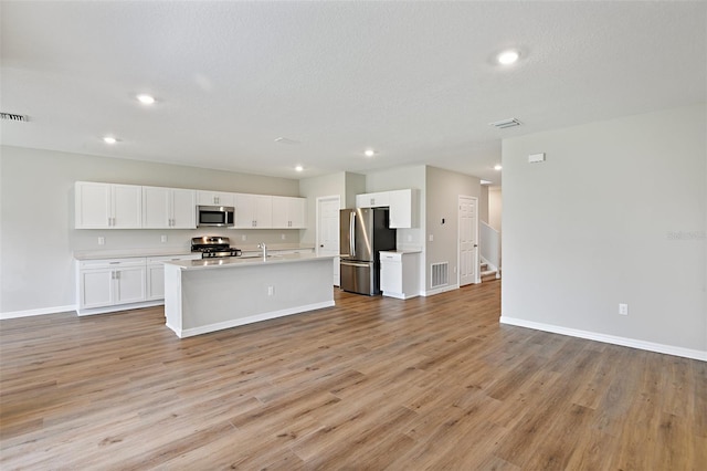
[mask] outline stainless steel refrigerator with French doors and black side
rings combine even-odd
[[[360,294],[380,294],[380,251],[395,249],[395,230],[388,228],[388,208],[342,209],[339,241],[340,286]]]

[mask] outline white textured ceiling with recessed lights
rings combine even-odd
[[[2,121],[3,144],[276,177],[426,164],[499,185],[504,137],[707,90],[701,1],[0,8],[1,111],[30,117]]]

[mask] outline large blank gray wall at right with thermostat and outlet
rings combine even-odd
[[[504,140],[503,317],[707,350],[706,125],[703,104]]]

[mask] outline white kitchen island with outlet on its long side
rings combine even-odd
[[[180,338],[334,305],[331,257],[165,263],[167,326]]]

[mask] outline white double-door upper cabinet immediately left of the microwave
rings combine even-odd
[[[145,229],[196,229],[196,208],[194,190],[143,187]]]

